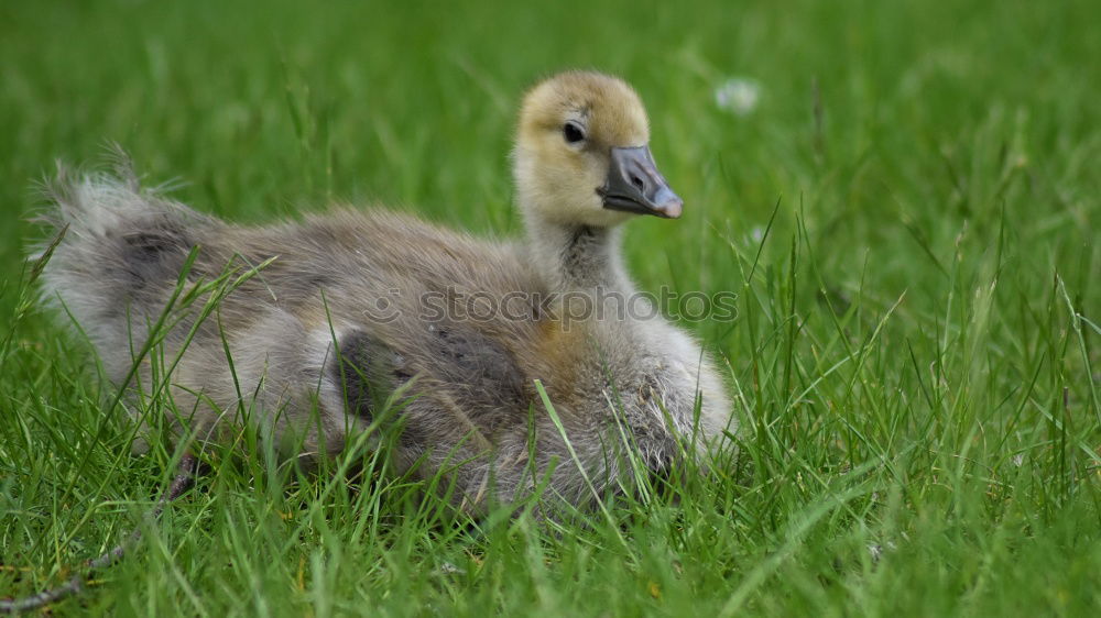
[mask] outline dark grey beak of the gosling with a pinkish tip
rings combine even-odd
[[[680,217],[684,201],[657,170],[648,146],[612,148],[608,180],[597,192],[604,208],[663,219]]]

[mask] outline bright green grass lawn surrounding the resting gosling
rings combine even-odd
[[[1095,2],[8,2],[0,597],[55,615],[1064,615],[1101,608]],[[446,521],[417,486],[216,460],[156,522],[87,345],[35,309],[32,183],[127,147],[238,221],[331,199],[514,234],[514,104],[593,66],[686,199],[645,289],[733,290],[738,456],[612,520]],[[728,77],[757,108],[716,106]],[[341,463],[336,462],[334,467]]]

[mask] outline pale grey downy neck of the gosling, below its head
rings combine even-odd
[[[526,221],[532,267],[556,291],[630,291],[631,282],[620,258],[620,231],[539,220]]]

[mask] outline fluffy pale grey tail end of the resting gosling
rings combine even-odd
[[[140,345],[212,220],[143,189],[123,154],[112,173],[58,165],[43,188],[48,206],[36,220],[51,233],[37,253],[52,255],[42,300],[75,320],[111,365],[112,350]]]

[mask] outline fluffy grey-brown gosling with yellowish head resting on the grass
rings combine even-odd
[[[632,299],[620,224],[682,211],[648,139],[618,78],[570,71],[533,88],[513,158],[526,238],[510,243],[378,209],[239,227],[142,190],[127,170],[62,174],[53,223],[68,230],[45,297],[88,333],[112,380],[142,389],[152,369],[145,357],[133,371],[135,353],[167,316],[168,390],[188,417],[170,420],[199,440],[251,422],[308,459],[372,422],[399,427],[385,446],[396,470],[443,471],[471,514],[544,482],[585,507],[630,487],[628,453],[661,472],[734,429],[700,346],[623,311],[645,300]],[[173,305],[182,272],[195,285],[260,264],[209,316],[205,297]],[[396,412],[379,416],[395,393]]]

